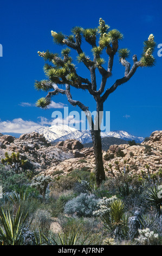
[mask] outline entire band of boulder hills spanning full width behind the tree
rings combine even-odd
[[[15,138],[0,136],[0,159],[5,152],[19,152],[22,159],[28,159],[34,169],[45,175],[66,175],[74,169],[93,172],[95,160],[93,148],[84,148],[75,139],[52,145],[37,132]],[[162,168],[162,131],[155,131],[146,142],[138,145],[114,144],[103,150],[103,162],[106,175],[131,173],[145,175],[157,173]]]

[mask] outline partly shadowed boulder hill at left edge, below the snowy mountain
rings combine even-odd
[[[73,144],[71,147],[70,143]],[[10,135],[0,137],[0,159],[4,157],[5,152],[9,155],[12,152],[19,152],[21,158],[27,159],[38,171],[46,170],[65,159],[75,157],[77,148],[83,148],[83,145],[77,141],[66,142],[61,148],[53,146],[37,132],[21,135],[20,138]]]

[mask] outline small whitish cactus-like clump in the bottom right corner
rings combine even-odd
[[[159,235],[155,234],[149,228],[139,229],[139,237],[135,239],[140,245],[157,245],[159,241]]]

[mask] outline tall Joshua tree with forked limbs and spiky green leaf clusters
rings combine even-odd
[[[138,61],[137,55],[133,55],[133,65],[126,60],[129,57],[130,51],[127,48],[120,48],[118,50],[118,43],[124,38],[123,34],[116,29],[109,29],[105,21],[101,18],[99,20],[98,28],[74,27],[72,29],[72,35],[66,36],[62,32],[56,33],[51,31],[54,42],[63,46],[61,56],[57,53],[51,53],[49,51],[40,52],[38,54],[43,57],[46,63],[44,65],[44,72],[46,73],[48,80],[36,81],[35,88],[37,90],[43,90],[48,92],[46,97],[42,97],[37,101],[37,106],[41,108],[47,108],[51,102],[51,97],[56,94],[64,94],[70,104],[78,106],[83,112],[85,112],[88,121],[90,120],[90,132],[92,135],[95,163],[96,163],[96,182],[98,186],[103,180],[105,180],[105,172],[103,169],[102,161],[102,145],[100,136],[100,124],[102,117],[99,113],[103,112],[103,103],[107,100],[108,96],[113,93],[118,86],[126,83],[134,75],[138,67],[153,66],[155,59],[152,55],[155,42],[154,36],[151,34],[148,40],[144,41],[144,50],[141,59]],[[86,53],[82,50],[82,40],[85,39],[92,47],[93,58],[90,59],[86,56]],[[70,50],[77,52],[77,60],[79,63],[83,63],[89,70],[90,80],[85,77],[81,77],[73,63],[72,57],[70,57]],[[107,67],[104,68],[105,60],[101,58],[101,53],[106,51],[108,56]],[[113,60],[115,54],[118,52],[119,61],[125,68],[125,74],[122,78],[115,81],[111,86],[107,86],[107,80],[112,76]],[[96,70],[101,75],[101,83],[98,87],[96,80]],[[64,88],[60,88],[63,86]],[[97,126],[99,129],[94,129],[95,122],[89,114],[88,106],[83,105],[81,101],[74,100],[70,93],[70,87],[77,89],[87,90],[89,94],[94,97],[96,102],[96,113],[98,115]],[[88,99],[87,99],[88,102]]]

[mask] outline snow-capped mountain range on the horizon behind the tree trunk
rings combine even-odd
[[[77,139],[83,144],[92,142],[89,130],[76,130],[68,125],[42,126],[35,130],[35,132],[43,134],[49,142],[66,141],[66,139]],[[126,131],[101,132],[101,137],[115,137],[125,139],[126,141],[134,140],[137,143],[144,141],[143,137],[131,135]]]

